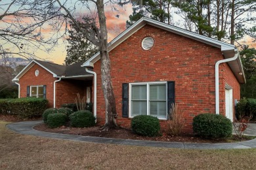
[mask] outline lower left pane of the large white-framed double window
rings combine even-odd
[[[131,116],[146,114],[146,101],[131,101]]]

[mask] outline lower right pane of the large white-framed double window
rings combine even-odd
[[[166,101],[150,101],[150,115],[166,117]]]

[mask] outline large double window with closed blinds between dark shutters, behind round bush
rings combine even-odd
[[[130,116],[140,114],[167,118],[166,82],[130,84]]]

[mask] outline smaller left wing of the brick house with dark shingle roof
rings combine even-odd
[[[49,107],[75,103],[77,93],[91,102],[93,75],[81,64],[65,66],[33,59],[12,81],[19,86],[19,97],[46,98]]]

